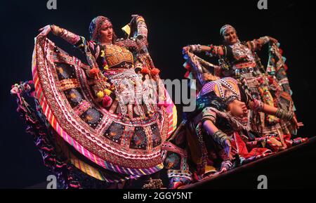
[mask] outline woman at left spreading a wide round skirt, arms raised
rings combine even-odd
[[[161,145],[175,129],[169,123],[176,123],[176,108],[147,51],[145,20],[132,17],[124,27],[128,39],[117,39],[104,16],[91,21],[90,41],[56,25],[41,28],[33,81],[11,90],[63,188],[94,183],[106,188],[141,176],[152,177],[145,188],[162,186]],[[79,48],[88,65],[48,40],[50,32]],[[27,94],[36,108],[27,103]]]

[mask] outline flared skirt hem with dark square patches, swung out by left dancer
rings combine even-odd
[[[55,131],[82,155],[105,169],[130,175],[159,171],[162,168],[160,146],[152,147],[154,143],[149,140],[152,136],[151,127],[154,125],[159,126],[161,139],[166,139],[168,114],[165,108],[161,107],[161,112],[147,119],[123,120],[118,114],[110,113],[98,105],[95,96],[91,93],[89,84],[93,84],[93,81],[89,81],[86,77],[82,69],[84,65],[63,51],[56,53],[54,48],[54,44],[48,39],[37,41],[34,50],[33,76],[36,96]],[[71,75],[81,86],[77,88],[70,86],[67,90],[59,90],[60,80],[64,80],[63,77],[58,79],[56,72],[58,67],[62,67],[60,63],[72,67]],[[88,103],[86,105],[88,110],[85,112],[77,110],[82,109],[83,103]],[[114,139],[107,136],[107,129],[112,124],[121,125],[123,128],[122,131],[112,131],[116,133],[116,135],[111,134]],[[139,137],[138,131],[135,131],[137,127],[144,133],[143,136]],[[140,142],[146,143],[143,148],[131,142],[136,137]]]

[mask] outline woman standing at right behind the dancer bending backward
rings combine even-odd
[[[294,112],[291,89],[285,72],[287,66],[284,64],[282,51],[277,47],[277,40],[265,36],[252,41],[240,41],[231,25],[221,27],[220,35],[223,37],[223,45],[191,45],[185,46],[183,51],[205,52],[210,57],[217,57],[219,65],[211,71],[213,76],[233,77],[252,98]],[[270,56],[268,66],[264,68],[256,52],[268,43]],[[294,126],[291,126],[290,122],[279,120],[274,115],[261,113],[261,123],[265,134],[295,134]]]

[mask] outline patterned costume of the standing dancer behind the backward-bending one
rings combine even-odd
[[[263,43],[259,42],[258,39],[254,39],[246,42],[237,41],[236,44],[230,46],[211,45],[213,50],[211,56],[219,58],[219,66],[207,65],[204,60],[196,55],[187,54],[185,55],[187,60],[186,69],[188,70],[186,76],[197,79],[197,92],[210,80],[232,77],[242,84],[242,89],[251,98],[293,112],[295,108],[291,99],[291,89],[286,74],[287,66],[284,64],[282,51],[279,50],[277,45],[270,45],[269,62],[265,70],[260,58],[256,55],[256,51],[259,51],[261,46],[268,42],[268,37],[262,37],[261,41]],[[223,55],[219,54],[218,49],[223,51]],[[204,77],[206,72],[211,77]],[[208,84],[204,87],[204,91],[207,92],[207,89],[212,88],[211,84]],[[231,99],[233,100],[233,98]],[[289,122],[280,120],[273,115],[261,112],[257,114],[256,120],[261,123],[261,129],[258,130],[262,131],[263,134],[277,133],[282,136],[283,134],[295,133]]]

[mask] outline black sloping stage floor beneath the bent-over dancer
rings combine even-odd
[[[316,188],[316,136],[287,150],[244,164],[181,189],[252,188],[265,175],[268,188]]]

